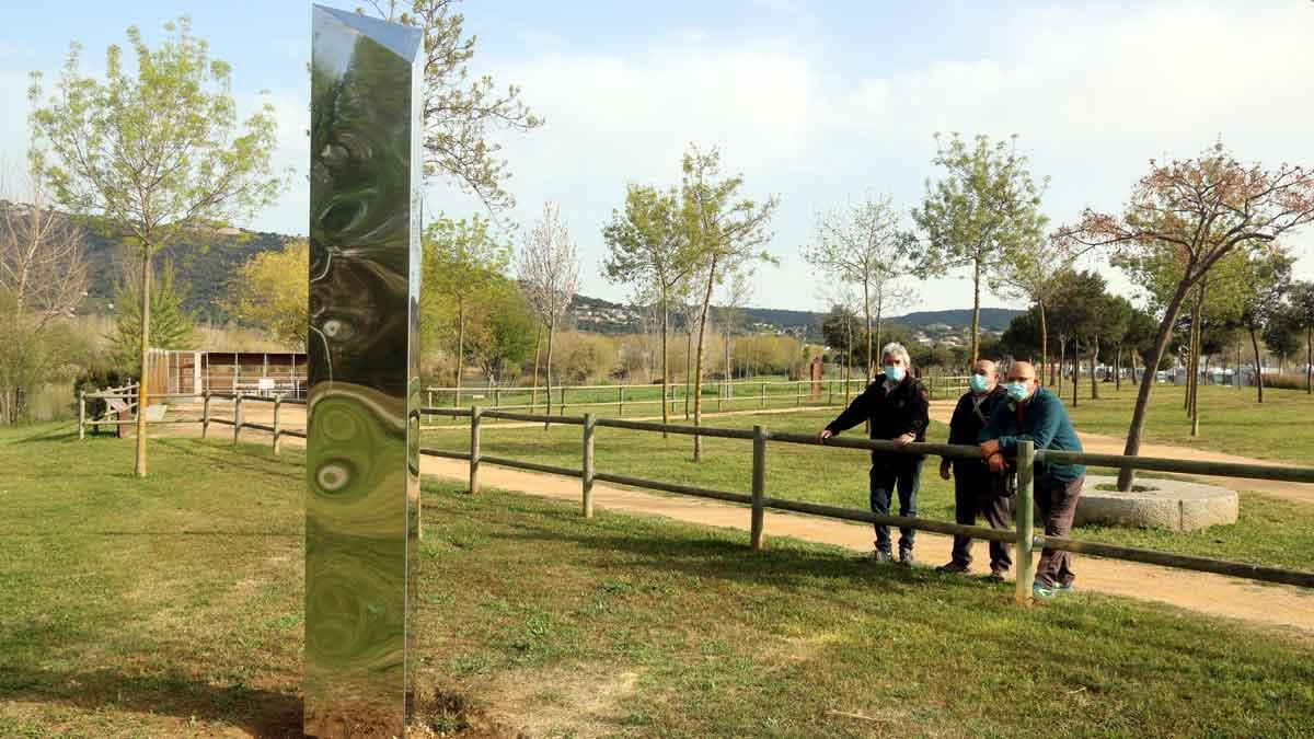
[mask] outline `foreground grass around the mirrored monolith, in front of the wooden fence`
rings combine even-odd
[[[300,455],[164,439],[139,483],[130,444],[0,431],[0,735],[294,735]],[[435,731],[1314,732],[1314,644],[1288,634],[1088,594],[1022,610],[979,580],[497,490],[426,484],[424,506]]]

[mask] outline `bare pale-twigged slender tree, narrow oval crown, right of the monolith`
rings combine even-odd
[[[519,270],[524,297],[548,327],[545,385],[548,416],[552,416],[552,338],[561,317],[570,308],[579,281],[576,245],[570,241],[570,230],[561,222],[556,203],[543,205],[543,218],[535,224],[520,247]]]

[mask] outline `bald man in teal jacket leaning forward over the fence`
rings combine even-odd
[[[1017,454],[1017,442],[1030,441],[1037,450],[1081,451],[1063,401],[1041,387],[1030,362],[1016,362],[1008,371],[1008,402],[1000,404],[980,434],[982,458],[993,472]],[[1037,464],[1033,475],[1035,505],[1045,518],[1046,536],[1067,536],[1072,530],[1077,498],[1085,483],[1081,464]],[[1042,598],[1072,592],[1072,554],[1043,550],[1035,567],[1031,592]]]

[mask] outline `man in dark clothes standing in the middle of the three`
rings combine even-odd
[[[999,384],[995,363],[982,359],[972,367],[968,379],[971,389],[958,398],[954,417],[949,422],[949,443],[976,446],[982,429],[995,408],[1008,397]],[[984,515],[991,529],[1012,529],[1012,500],[1007,475],[991,472],[983,459],[946,458],[940,463],[940,476],[954,477],[954,519],[971,526],[978,515]],[[954,536],[954,555],[940,572],[967,572],[972,565],[972,538]],[[989,580],[1001,583],[1013,560],[1004,542],[989,543]]]

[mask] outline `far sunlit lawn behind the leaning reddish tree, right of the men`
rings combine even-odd
[[[1071,388],[1068,388],[1071,389]],[[1083,383],[1076,408],[1070,393],[1064,402],[1072,422],[1089,434],[1125,439],[1137,404],[1137,387],[1100,384],[1100,400],[1092,401],[1091,385]],[[1305,391],[1264,389],[1263,405],[1255,388],[1200,387],[1200,435],[1190,435],[1190,418],[1181,404],[1185,388],[1155,385],[1146,417],[1146,442],[1197,447],[1242,456],[1314,465],[1314,396]]]

